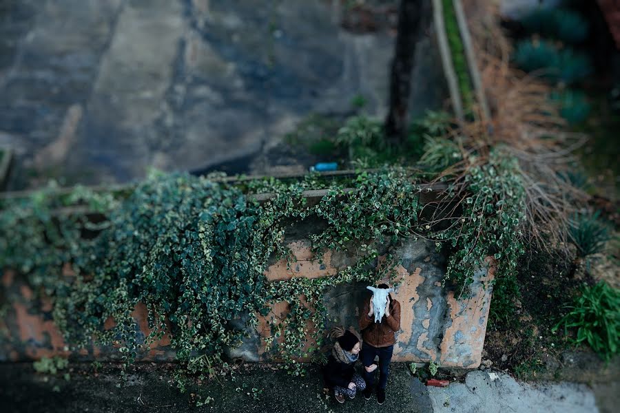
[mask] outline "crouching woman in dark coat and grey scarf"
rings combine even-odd
[[[323,374],[325,383],[333,391],[336,401],[344,403],[344,396],[354,399],[355,394],[364,391],[366,382],[355,372],[355,361],[358,361],[362,343],[358,336],[342,328],[332,332],[335,343],[327,359]]]

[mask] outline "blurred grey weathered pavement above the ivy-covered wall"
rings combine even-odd
[[[393,30],[345,30],[347,12],[340,0],[3,0],[0,145],[22,165],[12,189],[29,174],[125,182],[232,160],[244,171],[307,114],[351,114],[362,95],[384,116]],[[431,39],[417,50],[413,116],[446,96]]]

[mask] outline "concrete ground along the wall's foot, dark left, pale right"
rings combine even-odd
[[[271,366],[240,368],[232,379],[223,377],[185,394],[171,385],[173,371],[169,365],[141,364],[122,381],[114,368],[95,376],[90,364],[74,364],[67,381],[63,373],[54,377],[35,373],[30,363],[6,363],[0,365],[0,411],[589,413],[611,412],[618,403],[618,396],[610,393],[613,386],[595,392],[576,383],[521,383],[489,370],[469,372],[464,383],[431,388],[411,377],[402,363],[393,365],[384,405],[359,395],[343,405],[335,403],[323,392],[314,367],[307,377],[291,377]],[[202,407],[190,405],[191,394],[198,391],[213,401]]]

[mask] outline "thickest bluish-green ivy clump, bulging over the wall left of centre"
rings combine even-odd
[[[258,242],[257,209],[238,189],[209,180],[147,179],[110,213],[110,230],[94,249],[92,279],[79,279],[60,301],[64,312],[56,315],[67,319],[63,325],[81,325],[71,341],[120,337],[121,352],[133,361],[138,343],[131,312],[138,302],[147,306],[154,328],[145,344],[161,337],[167,316],[172,346],[190,366],[192,352],[220,354],[240,341],[242,332],[226,324],[256,301],[253,293],[262,285],[263,268],[247,248]],[[101,332],[107,317],[116,326]]]

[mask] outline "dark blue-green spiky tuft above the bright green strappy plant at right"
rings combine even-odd
[[[611,239],[609,226],[599,220],[599,212],[581,213],[572,216],[568,226],[570,240],[577,246],[580,257],[601,251]]]

